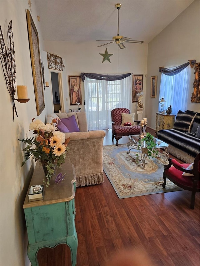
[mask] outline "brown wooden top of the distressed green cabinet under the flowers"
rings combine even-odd
[[[55,178],[60,172],[62,172],[63,175],[66,173],[66,175],[64,177],[64,180],[57,184],[55,183]],[[44,184],[43,183],[44,178],[45,176],[42,165],[39,162],[37,162],[29,188],[30,186],[33,185]],[[28,201],[29,188],[28,188],[23,208],[25,209],[25,208],[43,206],[48,204],[54,204],[58,202],[71,201],[75,196],[74,185],[73,185],[75,181],[76,181],[76,175],[73,164],[69,162],[63,163],[62,168],[57,168],[55,176],[52,177],[50,181],[50,185],[46,187],[46,185],[44,184],[43,200],[29,202]]]

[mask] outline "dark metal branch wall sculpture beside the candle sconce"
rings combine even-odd
[[[14,121],[14,111],[17,115],[17,110],[15,107],[15,92],[16,92],[16,65],[15,65],[15,50],[14,41],[12,34],[12,20],[8,25],[8,47],[6,49],[5,41],[3,39],[3,34],[0,25],[0,60],[2,64],[3,74],[6,80],[6,86],[8,92],[12,98],[12,122]],[[17,116],[18,117],[18,116]]]

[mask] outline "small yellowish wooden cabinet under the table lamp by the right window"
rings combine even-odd
[[[159,130],[173,128],[174,120],[174,114],[156,113],[156,137]]]

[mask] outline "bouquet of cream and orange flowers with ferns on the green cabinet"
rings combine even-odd
[[[64,133],[56,131],[57,127],[54,123],[57,122],[57,119],[53,119],[51,124],[45,124],[39,119],[34,121],[34,119],[35,118],[32,119],[29,129],[33,130],[33,134],[37,136],[18,139],[27,144],[26,148],[22,150],[26,153],[24,154],[21,166],[23,166],[30,157],[33,157],[35,161],[41,162],[46,167],[47,182],[45,180],[43,180],[43,182],[48,186],[54,169],[56,167],[60,168],[65,160],[66,152],[69,149],[67,145],[70,138],[65,139]]]

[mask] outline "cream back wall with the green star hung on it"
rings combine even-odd
[[[63,72],[67,76],[80,75],[84,73],[100,73],[100,74],[124,74],[133,73],[134,75],[143,74],[147,72],[147,44],[125,44],[125,49],[119,49],[118,45],[113,43],[108,46],[97,47],[99,42],[64,42],[64,41],[46,41],[44,42],[45,51],[49,53],[55,53],[65,59],[65,68]],[[105,53],[108,50],[110,56],[110,62],[104,61],[103,56],[100,53]],[[119,69],[118,69],[119,66]],[[63,73],[63,76],[64,76]],[[132,77],[131,77],[132,78]],[[81,84],[82,88],[82,104],[84,104],[84,84]],[[143,80],[143,90],[145,95],[146,78]],[[78,109],[78,106],[70,106],[69,100],[69,88],[63,87],[64,93],[64,108],[69,112],[69,109]],[[68,101],[66,101],[68,98]],[[144,99],[145,103],[145,99]],[[84,105],[81,106],[84,110]],[[132,104],[132,112],[137,114],[137,103]]]

